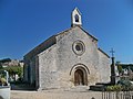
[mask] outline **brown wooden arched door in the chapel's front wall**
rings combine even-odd
[[[86,72],[83,68],[78,68],[74,72],[74,85],[75,86],[88,85]]]

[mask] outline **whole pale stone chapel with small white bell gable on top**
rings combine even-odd
[[[24,81],[37,90],[88,87],[110,82],[110,57],[98,38],[82,28],[78,8],[71,28],[58,33],[24,55]]]

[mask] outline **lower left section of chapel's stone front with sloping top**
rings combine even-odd
[[[53,45],[38,55],[39,56],[39,87],[41,89],[59,87],[55,46],[57,45]]]

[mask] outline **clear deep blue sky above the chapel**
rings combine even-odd
[[[133,0],[0,0],[0,58],[22,59],[51,35],[71,26],[78,7],[83,28],[116,61],[133,63]]]

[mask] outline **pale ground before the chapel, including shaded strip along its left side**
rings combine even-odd
[[[83,87],[33,91],[29,85],[12,84],[11,89],[10,99],[102,99],[102,92],[90,91]]]

